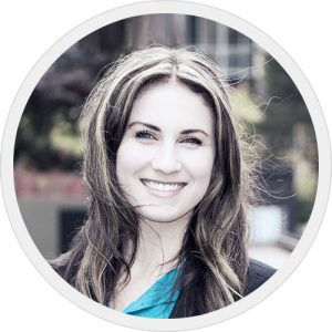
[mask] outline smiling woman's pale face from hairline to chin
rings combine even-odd
[[[160,83],[135,101],[117,151],[120,185],[144,218],[189,217],[207,191],[215,157],[210,107],[178,83]]]

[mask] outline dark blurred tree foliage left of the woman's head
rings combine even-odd
[[[64,52],[31,94],[15,139],[14,163],[37,169],[76,169],[81,159],[76,123],[94,83],[122,51],[123,21],[101,29]],[[116,49],[116,53],[112,52]]]

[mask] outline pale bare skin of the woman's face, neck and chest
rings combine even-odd
[[[120,289],[115,309],[125,309],[174,266],[164,262],[179,251],[193,209],[210,181],[212,121],[203,96],[179,83],[153,85],[135,101],[116,174],[143,220],[132,278]]]

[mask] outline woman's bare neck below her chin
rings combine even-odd
[[[158,271],[160,274],[174,268],[177,261],[168,261],[178,255],[188,221],[188,216],[174,222],[142,220],[135,263],[146,271]]]

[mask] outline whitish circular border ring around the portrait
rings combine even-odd
[[[93,31],[129,17],[153,13],[178,13],[206,18],[243,33],[269,52],[290,74],[310,111],[320,156],[318,190],[311,218],[284,266],[257,291],[231,305],[200,317],[163,320],[163,324],[159,320],[137,318],[110,310],[87,299],[59,277],[41,256],[29,235],[18,206],[13,179],[13,151],[18,125],[32,91],[51,64],[71,45]],[[321,156],[324,156],[324,162]],[[220,9],[193,2],[149,1],[113,9],[87,20],[59,40],[38,61],[22,83],[7,120],[2,141],[1,178],[7,212],[19,242],[39,272],[65,298],[96,317],[124,326],[154,331],[190,330],[215,324],[245,312],[272,293],[298,267],[317,236],[326,208],[331,180],[331,152],[326,124],[314,92],[294,61],[273,40],[245,20]]]

